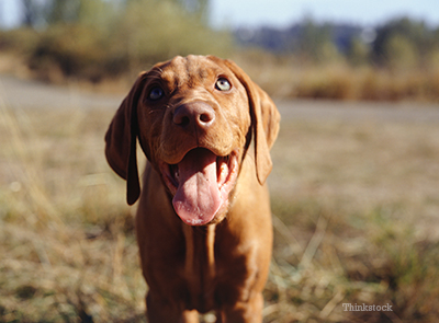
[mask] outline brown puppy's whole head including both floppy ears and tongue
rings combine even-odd
[[[225,214],[251,140],[256,176],[264,183],[279,120],[271,99],[233,61],[176,57],[139,74],[105,135],[105,154],[127,181],[132,205],[140,193],[138,138],[178,216],[206,224]]]

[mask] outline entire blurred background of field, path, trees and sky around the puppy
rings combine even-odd
[[[146,322],[103,137],[139,71],[189,54],[282,114],[264,322],[438,321],[437,0],[0,0],[0,322]]]

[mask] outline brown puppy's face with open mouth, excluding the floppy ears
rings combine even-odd
[[[143,76],[139,141],[188,224],[225,214],[251,124],[243,84],[218,62],[177,57]]]

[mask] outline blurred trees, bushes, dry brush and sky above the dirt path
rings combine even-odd
[[[2,0],[2,57],[20,60],[2,69],[131,85],[157,61],[214,54],[245,65],[274,96],[438,101],[437,8],[434,0]]]

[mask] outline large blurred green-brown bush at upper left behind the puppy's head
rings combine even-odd
[[[225,55],[227,33],[205,24],[206,1],[52,1],[27,62],[41,78],[98,82],[137,73],[176,55]],[[29,33],[35,34],[33,31]]]

